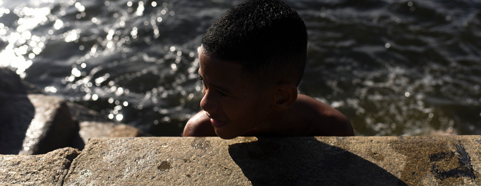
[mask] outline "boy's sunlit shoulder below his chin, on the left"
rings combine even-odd
[[[217,136],[214,127],[211,124],[210,118],[204,111],[200,111],[192,116],[184,128],[183,137],[205,137]]]

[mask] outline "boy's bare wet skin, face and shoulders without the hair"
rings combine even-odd
[[[336,109],[297,94],[294,84],[280,81],[262,91],[243,78],[239,64],[199,51],[199,79],[204,84],[200,106],[183,136],[352,136],[349,120]]]

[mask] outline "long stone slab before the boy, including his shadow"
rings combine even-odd
[[[65,185],[480,185],[481,136],[97,138]]]

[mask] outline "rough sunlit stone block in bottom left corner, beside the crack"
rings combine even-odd
[[[0,155],[0,185],[61,186],[79,153],[63,148],[43,155]]]

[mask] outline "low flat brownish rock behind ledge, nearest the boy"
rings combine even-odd
[[[142,133],[139,129],[113,122],[82,121],[80,125],[80,137],[84,143],[90,138],[103,137],[140,137]]]

